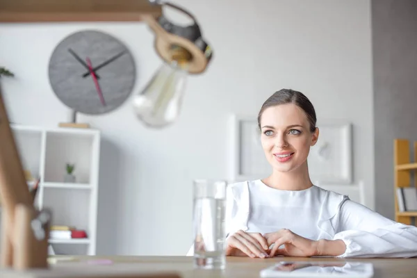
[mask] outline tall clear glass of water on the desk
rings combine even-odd
[[[194,181],[194,265],[195,268],[224,269],[226,181]]]

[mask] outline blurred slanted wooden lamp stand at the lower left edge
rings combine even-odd
[[[1,88],[0,142],[1,265],[19,270],[47,268],[49,222],[40,227],[43,238],[35,238],[32,224],[40,212],[33,206]]]

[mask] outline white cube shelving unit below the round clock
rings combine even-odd
[[[88,238],[50,239],[56,254],[96,254],[100,132],[10,124],[24,170],[40,177],[35,206],[50,208],[52,224],[85,230]],[[66,164],[76,180],[65,183]]]

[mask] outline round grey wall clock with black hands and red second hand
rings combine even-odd
[[[103,114],[131,95],[136,66],[130,51],[100,31],[80,31],[62,40],[49,60],[49,82],[74,111]]]

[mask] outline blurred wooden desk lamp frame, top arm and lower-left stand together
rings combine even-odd
[[[197,22],[187,27],[169,22],[162,13],[164,5],[190,15],[171,3],[150,0],[0,0],[0,23],[143,21],[156,35],[154,47],[161,59],[170,63],[175,45],[191,54],[190,74],[204,72],[212,50],[203,40]],[[53,212],[38,211],[33,206],[1,90],[0,142],[1,266],[15,270],[48,268]]]

